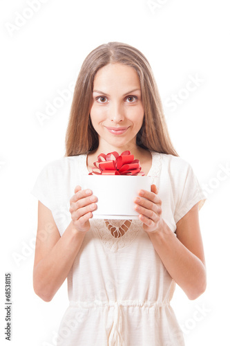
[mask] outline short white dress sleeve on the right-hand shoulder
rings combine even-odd
[[[196,203],[199,202],[199,210],[204,205],[207,197],[202,192],[202,188],[195,176],[193,169],[189,163],[184,167],[182,177],[178,183],[179,195],[176,201],[174,219],[177,223],[184,215],[186,215]]]

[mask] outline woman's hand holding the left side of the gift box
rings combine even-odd
[[[77,185],[75,194],[70,199],[70,213],[73,225],[79,232],[87,232],[90,229],[89,219],[93,217],[93,210],[97,209],[97,197],[91,190],[82,190]]]

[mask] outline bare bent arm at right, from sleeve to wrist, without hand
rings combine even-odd
[[[149,233],[149,238],[171,277],[193,300],[206,289],[198,203],[178,221],[176,234],[164,222],[162,229]]]

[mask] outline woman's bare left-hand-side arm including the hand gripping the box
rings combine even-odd
[[[92,191],[87,193],[77,185],[70,199],[72,221],[61,237],[52,212],[39,201],[33,286],[46,302],[52,300],[63,284],[90,229],[89,219],[97,208],[97,197],[91,195]]]

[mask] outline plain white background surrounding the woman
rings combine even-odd
[[[230,165],[228,1],[43,0],[36,11],[28,10],[30,2],[0,5],[1,340],[6,343],[4,277],[10,271],[11,345],[55,345],[68,306],[67,284],[51,302],[33,291],[37,200],[30,190],[42,167],[64,156],[72,96],[42,125],[37,112],[45,113],[58,91],[75,83],[93,48],[118,41],[146,55],[175,149],[207,191],[200,210],[207,291],[191,301],[177,286],[172,300],[186,346],[228,345],[230,172],[223,168]],[[182,90],[191,77],[198,85]],[[169,107],[172,95],[180,101],[175,107]]]

